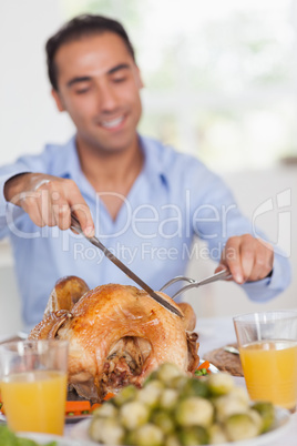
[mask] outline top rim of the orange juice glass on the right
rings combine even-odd
[[[283,320],[295,320],[297,318],[296,310],[270,310],[263,312],[249,312],[244,314],[238,314],[233,316],[234,324],[236,323],[245,323],[245,324],[254,324],[254,323],[269,323],[269,322],[279,322]]]

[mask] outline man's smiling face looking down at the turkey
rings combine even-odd
[[[68,111],[78,141],[104,152],[129,149],[141,116],[139,69],[124,41],[112,32],[83,37],[57,52],[60,111]]]

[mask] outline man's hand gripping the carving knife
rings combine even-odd
[[[23,173],[4,184],[7,201],[22,207],[38,226],[68,230],[71,212],[79,219],[84,234],[94,235],[94,223],[88,204],[72,180],[42,173]]]

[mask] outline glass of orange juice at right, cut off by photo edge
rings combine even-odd
[[[297,312],[274,311],[234,317],[248,394],[254,401],[296,409]]]

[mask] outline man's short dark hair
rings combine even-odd
[[[54,55],[59,48],[73,40],[79,40],[86,36],[101,34],[103,32],[113,32],[121,37],[124,41],[127,51],[135,60],[134,49],[127,37],[123,26],[116,20],[109,19],[103,16],[83,14],[66,22],[54,36],[52,36],[45,45],[48,58],[48,74],[54,90],[58,90],[57,82],[57,65],[54,63]]]

